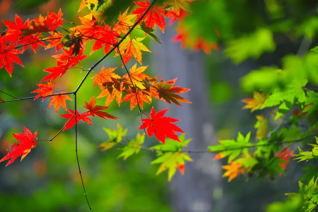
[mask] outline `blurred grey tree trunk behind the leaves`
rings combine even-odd
[[[186,139],[192,138],[189,150],[208,150],[207,146],[215,142],[204,67],[205,55],[202,52],[190,52],[189,49],[182,50],[180,43],[172,43],[171,39],[176,34],[173,27],[166,27],[164,34],[157,32],[163,45],[154,42],[156,44],[152,47],[155,54],[153,71],[159,75],[158,80],[161,77],[164,77],[164,81],[178,78],[175,85],[190,88],[191,91],[181,95],[192,102],[181,102],[184,108],[160,102],[160,110],[169,108],[167,116],[181,119],[176,125],[187,133]],[[171,180],[172,207],[178,212],[221,211],[218,161],[213,160],[214,155],[211,153],[190,153],[190,157],[193,161],[186,162],[184,176],[176,173]]]

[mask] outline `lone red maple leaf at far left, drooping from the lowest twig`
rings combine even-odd
[[[11,160],[9,160],[7,165],[5,165],[5,166],[8,166],[20,155],[22,155],[21,157],[21,160],[22,160],[31,151],[31,148],[37,145],[37,142],[36,142],[37,140],[34,140],[37,137],[37,133],[38,131],[35,131],[35,133],[32,135],[32,132],[28,130],[26,127],[24,127],[24,134],[22,133],[13,134],[14,138],[16,138],[19,141],[19,144],[15,142],[11,146],[8,154],[4,156],[0,160],[0,162],[11,158]]]

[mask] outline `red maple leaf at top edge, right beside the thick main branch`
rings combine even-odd
[[[131,14],[137,14],[135,23],[137,22],[137,20],[142,16],[142,14],[147,10],[147,8],[149,7],[150,3],[148,1],[146,2],[134,2],[135,4],[137,4],[138,6],[140,6],[141,8],[137,8],[135,9]],[[164,9],[164,6],[160,5],[160,4],[155,4],[153,7],[151,7],[151,9],[146,13],[146,15],[140,20],[145,20],[146,26],[149,28],[154,28],[155,24],[158,25],[159,29],[161,29],[161,31],[164,33],[164,28],[166,26],[166,22],[164,21],[164,18],[168,17],[168,18],[178,18],[178,16],[176,16],[175,13],[172,12],[167,12]]]

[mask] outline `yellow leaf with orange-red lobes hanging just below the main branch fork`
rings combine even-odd
[[[134,38],[131,39],[130,36],[127,36],[127,38],[124,39],[123,42],[119,45],[119,51],[122,55],[122,67],[124,67],[124,64],[128,63],[128,61],[131,59],[131,57],[134,55],[135,59],[141,63],[142,54],[141,51],[145,52],[151,52],[143,43],[142,41],[145,38]],[[118,50],[117,50],[118,51]],[[118,56],[119,53],[117,52],[115,56]]]

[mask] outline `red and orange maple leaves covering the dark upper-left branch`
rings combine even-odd
[[[31,93],[37,93],[34,100],[42,97],[42,101],[44,101],[47,97],[50,97],[48,98],[48,101],[50,101],[48,109],[54,106],[56,114],[60,107],[68,111],[68,113],[61,115],[67,119],[66,124],[62,128],[63,131],[70,129],[76,123],[79,123],[80,120],[91,125],[91,118],[94,118],[95,115],[103,119],[117,119],[118,117],[104,111],[113,100],[116,100],[119,106],[121,102],[130,101],[131,110],[136,106],[142,110],[144,102],[151,104],[153,97],[169,104],[173,102],[182,107],[180,102],[191,102],[179,94],[190,89],[175,86],[176,79],[170,81],[163,81],[161,79],[157,81],[158,76],[150,77],[144,73],[148,66],[138,67],[136,63],[134,66],[129,67],[130,71],[128,71],[126,66],[128,61],[132,60],[133,57],[142,65],[142,51],[151,52],[143,44],[145,37],[149,36],[160,42],[153,34],[155,25],[164,32],[166,26],[164,17],[177,20],[180,18],[180,11],[185,9],[184,5],[188,8],[188,4],[188,1],[168,1],[163,4],[150,4],[148,1],[135,2],[137,8],[131,11],[130,14],[128,13],[128,7],[126,11],[119,13],[118,22],[106,24],[103,21],[105,17],[102,17],[102,13],[111,5],[106,3],[100,4],[96,0],[82,0],[79,11],[87,7],[90,9],[90,13],[84,17],[79,17],[81,24],[74,25],[68,30],[62,28],[64,19],[62,18],[63,13],[61,10],[58,13],[48,12],[45,17],[40,15],[38,18],[33,20],[27,19],[25,22],[16,15],[15,22],[3,20],[7,29],[0,35],[0,68],[5,67],[11,76],[14,67],[13,62],[23,66],[17,54],[24,53],[29,46],[31,46],[34,53],[37,52],[39,46],[43,46],[45,49],[55,47],[56,51],[61,51],[61,53],[52,56],[56,59],[56,66],[43,70],[48,74],[37,84],[39,88]],[[140,25],[140,28],[135,28],[136,25]],[[59,29],[63,29],[63,33],[59,32]],[[130,33],[132,30],[142,30],[145,33],[145,37],[131,37]],[[88,56],[84,55],[87,42],[93,42],[90,55],[103,49],[106,57],[114,51],[115,57],[120,56],[122,67],[125,67],[127,74],[122,76],[116,74],[116,67],[107,68],[103,66],[99,70],[99,73],[93,72],[93,67],[84,69],[80,61]],[[91,77],[94,80],[93,86],[98,85],[101,90],[97,98],[106,97],[105,105],[96,105],[96,99],[93,96],[90,101],[84,102],[86,111],[82,113],[76,109],[76,106],[75,110],[67,107],[66,100],[72,101],[69,95],[76,94],[84,80],[74,92],[54,90],[54,86],[56,85],[54,80],[57,77],[63,77],[67,71],[75,68],[87,71],[84,80],[88,74],[95,73]],[[47,82],[45,83],[45,81]],[[0,99],[0,101],[3,100]],[[183,131],[175,124],[172,124],[179,120],[164,117],[163,115],[167,110],[159,111],[156,114],[155,109],[152,108],[150,117],[141,119],[143,123],[139,129],[147,129],[149,137],[155,135],[163,144],[166,138],[180,142],[176,132]],[[30,134],[29,131],[26,131],[26,128],[24,131],[26,134]],[[28,142],[31,140],[31,137],[27,139]],[[33,140],[31,147],[36,145]],[[22,144],[26,140],[20,139],[19,141],[19,145],[12,146],[12,152],[22,151],[21,147],[24,146]],[[27,151],[30,151],[31,148],[29,147],[27,146]],[[23,151],[21,153],[22,157],[26,155]],[[15,155],[17,155],[12,152],[9,152],[2,160],[10,157],[12,158],[10,162],[12,162],[16,158]],[[182,166],[184,166],[184,163],[180,164],[180,170],[184,169]]]

